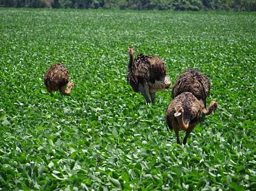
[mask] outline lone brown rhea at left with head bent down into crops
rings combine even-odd
[[[49,93],[59,90],[61,94],[67,95],[74,86],[73,82],[68,82],[68,78],[67,69],[61,63],[54,64],[44,75],[45,88]]]

